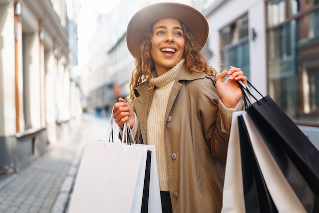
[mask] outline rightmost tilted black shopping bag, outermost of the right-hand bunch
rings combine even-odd
[[[258,100],[247,108],[264,140],[279,143],[291,161],[319,196],[319,151],[299,127],[275,103],[270,96]]]

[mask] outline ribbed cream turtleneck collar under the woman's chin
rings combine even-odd
[[[163,87],[164,85],[170,83],[174,79],[176,79],[181,67],[184,64],[185,59],[180,60],[174,67],[169,69],[167,72],[164,74],[157,76],[156,70],[152,71],[152,78],[150,82],[155,86],[155,87]]]

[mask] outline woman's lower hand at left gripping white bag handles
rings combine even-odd
[[[113,108],[114,119],[117,125],[121,128],[128,121],[129,127],[132,128],[135,123],[135,114],[131,106],[123,99],[119,98],[119,102],[114,104]]]

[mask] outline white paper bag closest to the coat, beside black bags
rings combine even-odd
[[[245,213],[240,135],[237,117],[244,111],[232,114],[229,136],[222,213]]]

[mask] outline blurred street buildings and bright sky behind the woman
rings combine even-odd
[[[128,94],[131,16],[151,0],[0,0],[0,174],[13,174]],[[169,2],[169,1],[166,1]],[[184,0],[209,22],[203,54],[241,67],[318,147],[319,0]]]

